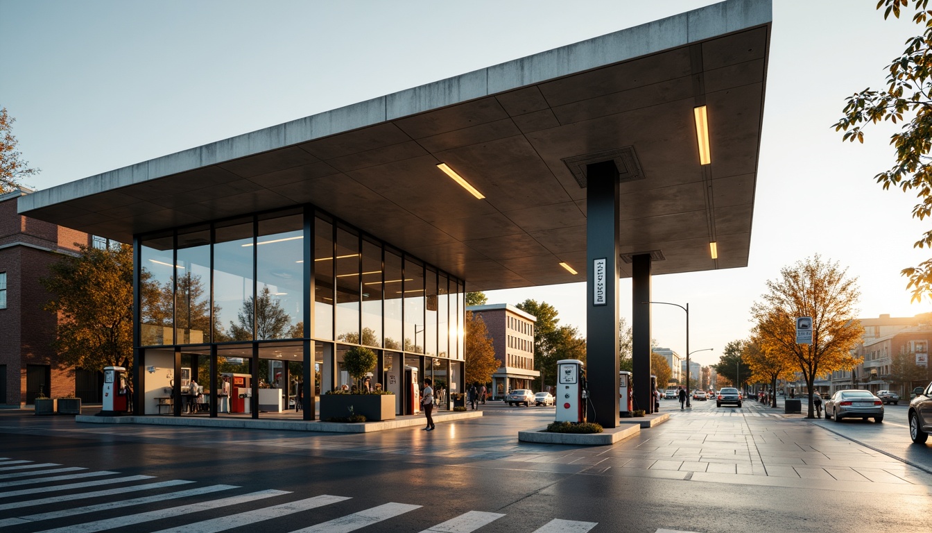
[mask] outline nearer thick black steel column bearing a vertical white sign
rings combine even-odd
[[[618,168],[586,165],[587,420],[618,425]]]

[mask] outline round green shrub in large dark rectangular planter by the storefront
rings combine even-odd
[[[356,382],[352,393],[331,390],[321,397],[321,420],[343,419],[347,413],[363,416],[365,420],[391,420],[395,417],[394,395],[386,390],[367,390],[363,377],[376,369],[376,353],[369,348],[356,346],[343,356],[349,376]]]

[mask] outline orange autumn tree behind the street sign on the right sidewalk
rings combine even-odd
[[[774,354],[788,358],[794,371],[802,372],[809,391],[809,418],[813,415],[816,376],[850,370],[859,359],[851,350],[864,329],[855,318],[860,297],[857,277],[850,277],[837,262],[814,258],[784,267],[780,276],[767,281],[761,302],[751,307],[758,341]],[[796,344],[796,318],[813,319],[812,344]]]

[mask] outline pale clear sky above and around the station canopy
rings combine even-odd
[[[0,105],[46,189],[711,3],[0,0]],[[653,279],[654,300],[690,303],[691,348],[715,348],[703,364],[747,336],[767,279],[815,253],[858,276],[860,316],[930,308],[910,304],[899,275],[928,257],[912,249],[927,224],[911,219],[911,194],[872,178],[892,162],[891,130],[855,146],[829,128],[918,33],[875,3],[774,2],[749,265]],[[582,284],[489,298],[552,303],[584,331]],[[652,336],[683,352],[683,313],[656,306],[653,320]]]

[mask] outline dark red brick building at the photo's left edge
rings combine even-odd
[[[49,295],[39,283],[60,254],[89,245],[89,235],[19,215],[17,203],[30,192],[0,194],[0,405],[30,404],[40,391],[98,400],[97,372],[59,364],[51,347],[56,318],[42,309]]]

